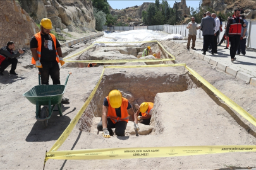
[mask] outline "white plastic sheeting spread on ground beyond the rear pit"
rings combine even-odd
[[[152,30],[131,30],[123,31],[120,33],[104,33],[104,37],[99,38],[96,43],[99,46],[135,46],[140,47],[143,43],[130,43],[130,42],[150,42],[150,41],[162,41],[162,40],[172,40],[173,38],[182,40],[180,34],[168,34],[159,35],[159,33]],[[111,42],[111,43],[104,43]],[[116,42],[116,43],[114,43]],[[129,42],[129,43],[118,43],[118,42]]]

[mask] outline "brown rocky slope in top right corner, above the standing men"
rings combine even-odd
[[[256,18],[256,0],[202,0],[202,6],[209,6],[213,8],[214,11],[221,13],[229,13],[234,9],[245,9],[245,15],[247,19]]]

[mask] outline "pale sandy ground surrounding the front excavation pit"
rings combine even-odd
[[[233,99],[238,105],[256,117],[256,91],[253,86],[219,72],[207,62],[192,59],[186,48],[172,41],[162,44],[180,63],[186,63],[217,89]],[[82,45],[80,49],[83,48]],[[77,49],[79,50],[79,48]],[[64,96],[70,103],[62,105],[63,116],[55,111],[46,129],[35,120],[35,105],[22,94],[38,84],[38,70],[30,66],[30,52],[20,57],[16,72],[9,76],[8,69],[0,77],[0,169],[42,169],[46,150],[51,149],[59,135],[68,126],[85,99],[88,98],[101,72],[101,67],[61,68],[61,84],[68,72],[72,72]],[[131,69],[107,69],[111,75]],[[135,72],[135,70],[132,70]],[[154,76],[157,72],[187,74],[178,68],[138,69]],[[125,81],[128,81],[127,74]],[[132,76],[132,75],[130,75]],[[193,76],[190,76],[193,79]],[[95,127],[99,118],[94,118],[91,132],[80,131],[78,125],[59,150],[97,149],[113,147],[160,147],[181,145],[256,145],[256,127],[229,108],[221,99],[193,79],[197,88],[183,92],[158,93],[154,99],[161,113],[162,133],[136,137],[111,137],[103,139]],[[51,82],[51,81],[50,81]],[[130,82],[132,84],[132,82]],[[147,87],[143,87],[147,88]],[[102,103],[102,101],[99,101]],[[155,127],[158,128],[158,127]],[[165,157],[150,159],[49,160],[46,169],[229,169],[229,167],[256,166],[255,153],[228,153],[202,156]]]

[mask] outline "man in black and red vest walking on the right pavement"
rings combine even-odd
[[[236,50],[238,45],[240,45],[241,38],[241,28],[247,27],[245,22],[240,18],[240,9],[235,9],[232,17],[228,19],[228,24],[226,28],[226,37],[229,37],[230,47],[230,57],[231,62],[236,60]]]

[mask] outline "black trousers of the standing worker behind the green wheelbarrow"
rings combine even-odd
[[[51,76],[52,84],[61,84],[59,81],[59,64],[58,62],[41,62],[42,68],[39,69],[41,74],[41,84],[49,84],[49,77]]]

